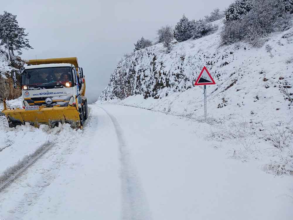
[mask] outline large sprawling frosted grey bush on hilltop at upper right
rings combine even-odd
[[[282,0],[253,0],[249,13],[241,19],[227,21],[221,33],[222,44],[245,40],[260,47],[274,31],[286,30],[291,18],[284,13]]]

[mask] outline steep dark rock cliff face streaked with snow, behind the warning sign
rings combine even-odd
[[[175,43],[168,54],[162,44],[136,51],[116,67],[99,101],[137,94],[145,99],[159,99],[183,92],[193,87],[203,66],[219,78],[223,73],[221,67],[234,60],[234,49],[219,49],[219,40],[217,32],[198,40]]]

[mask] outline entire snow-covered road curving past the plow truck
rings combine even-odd
[[[90,108],[83,131],[35,133],[54,145],[0,192],[1,220],[292,219],[292,176],[231,157],[233,145],[207,139],[204,126],[127,106]]]

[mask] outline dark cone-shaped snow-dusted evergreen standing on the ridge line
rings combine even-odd
[[[174,38],[179,42],[188,40],[192,37],[192,29],[192,22],[183,14],[174,28]]]

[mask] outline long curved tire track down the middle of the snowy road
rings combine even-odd
[[[142,184],[137,175],[131,158],[127,150],[127,145],[123,136],[123,131],[117,119],[108,113],[104,108],[106,114],[110,117],[116,131],[120,163],[121,163],[121,190],[122,190],[122,219],[123,220],[151,220],[151,212],[147,199],[142,189]]]

